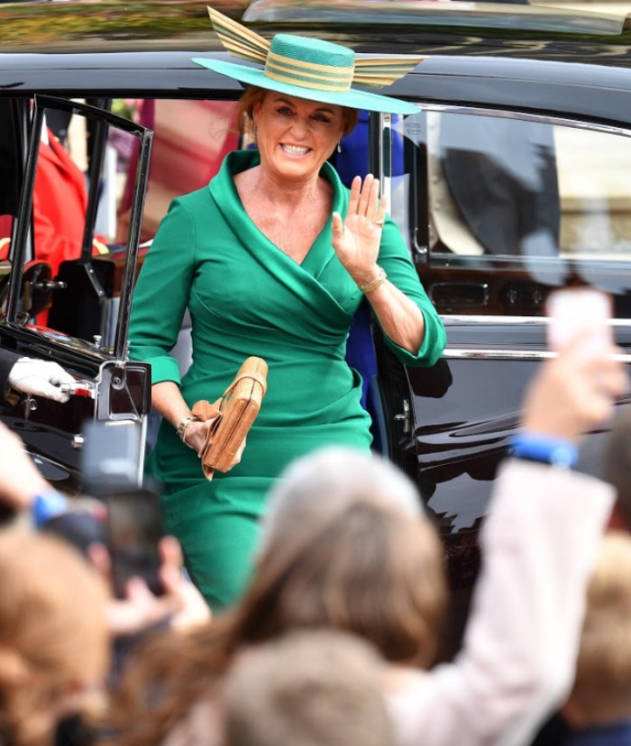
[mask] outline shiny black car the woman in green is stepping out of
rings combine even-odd
[[[490,483],[516,432],[526,382],[550,354],[546,297],[573,285],[607,290],[617,344],[625,354],[631,345],[628,23],[457,0],[215,6],[267,37],[297,32],[360,55],[426,55],[386,89],[422,113],[371,115],[366,168],[389,192],[448,345],[434,368],[405,368],[375,335],[374,430],[381,450],[416,480],[443,535],[453,588],[466,597]],[[226,56],[203,3],[0,6],[0,216],[12,226],[0,344],[59,360],[83,395],[67,405],[23,397],[0,416],[71,493],[82,485],[87,419],[132,423],[141,438],[146,431],[149,372],[126,355],[142,244],[171,196],[201,186],[224,151],[243,144],[231,120],[241,88],[191,61],[205,55]],[[47,122],[80,120],[88,133],[84,250],[55,277],[32,241],[44,114]],[[126,171],[111,160],[118,152],[121,168],[121,137]],[[134,187],[124,205],[113,202],[116,180]],[[104,205],[114,209],[112,252],[95,258]],[[581,469],[598,471],[604,434],[585,441]]]

